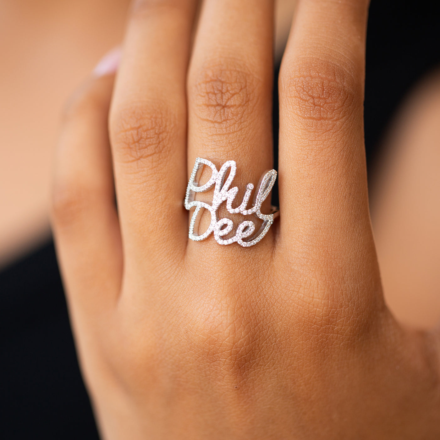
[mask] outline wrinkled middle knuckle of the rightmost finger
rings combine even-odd
[[[348,71],[328,60],[295,60],[280,76],[288,110],[309,132],[334,132],[353,114],[359,92]]]

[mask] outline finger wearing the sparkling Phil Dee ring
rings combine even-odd
[[[254,185],[255,194],[262,173],[273,168],[273,13],[271,0],[206,0],[194,43],[188,74],[188,175],[196,158],[212,161],[217,169],[235,161],[233,207],[241,204],[246,184]],[[235,227],[253,220],[237,216]],[[199,230],[199,236],[209,232],[206,225],[201,228],[206,231]],[[190,246],[218,249],[212,238]]]

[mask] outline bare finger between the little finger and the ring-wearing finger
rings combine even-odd
[[[185,79],[195,0],[136,1],[110,111],[127,258],[167,267],[187,242]]]

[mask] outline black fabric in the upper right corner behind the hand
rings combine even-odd
[[[440,3],[372,0],[367,28],[365,145],[374,176],[381,138],[396,108],[440,65]]]

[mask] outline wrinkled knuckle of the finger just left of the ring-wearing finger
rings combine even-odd
[[[112,141],[122,162],[163,160],[175,136],[177,117],[162,108],[130,105],[111,117]]]

